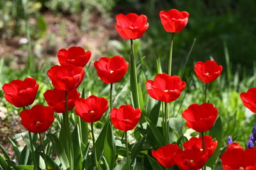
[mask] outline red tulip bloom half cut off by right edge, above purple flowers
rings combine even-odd
[[[256,88],[249,89],[246,93],[240,94],[244,106],[256,113]]]

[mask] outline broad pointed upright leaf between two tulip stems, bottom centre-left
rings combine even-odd
[[[108,130],[104,143],[104,157],[108,162],[109,168],[113,169],[115,166],[115,157],[116,157],[116,144],[115,144],[115,136],[112,131],[112,125],[108,123]]]

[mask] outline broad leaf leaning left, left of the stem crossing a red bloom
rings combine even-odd
[[[68,158],[63,146],[60,143],[60,140],[54,134],[46,134],[46,136],[49,141],[51,141],[54,151],[57,153],[61,163],[63,164],[63,168],[67,169],[67,167],[69,167]]]

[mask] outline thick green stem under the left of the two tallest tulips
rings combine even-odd
[[[132,96],[134,97],[134,106],[135,108],[140,108],[140,97],[139,97],[139,90],[138,90],[138,78],[136,72],[136,62],[134,57],[134,46],[133,46],[133,39],[131,39],[131,65],[132,65],[132,73],[133,73],[133,80],[135,91],[132,90]]]

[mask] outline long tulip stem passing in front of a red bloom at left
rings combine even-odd
[[[70,134],[70,127],[69,127],[69,120],[68,120],[68,91],[65,91],[65,114],[64,114],[64,124],[65,124],[65,130],[67,135],[67,155],[69,159],[69,169],[73,170],[73,160],[72,160],[72,140],[71,140],[71,134]]]

